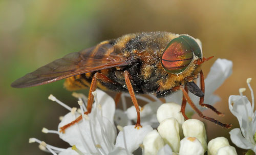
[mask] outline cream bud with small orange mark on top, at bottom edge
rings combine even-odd
[[[185,137],[180,141],[179,155],[204,155],[204,148],[195,137]]]

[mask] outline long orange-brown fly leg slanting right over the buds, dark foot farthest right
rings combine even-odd
[[[195,112],[203,119],[206,119],[206,120],[209,120],[211,122],[214,122],[222,127],[225,127],[225,128],[230,128],[232,126],[232,124],[224,124],[214,118],[210,118],[210,117],[207,117],[207,116],[204,116],[203,113],[197,108],[197,106],[193,103],[193,101],[190,99],[190,97],[188,96],[185,88],[183,86],[180,86],[180,89],[181,91],[183,92],[183,95],[187,101],[187,103],[193,108],[193,110],[195,110]]]

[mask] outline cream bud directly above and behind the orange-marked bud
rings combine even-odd
[[[182,130],[185,137],[196,137],[201,142],[204,151],[207,150],[206,131],[203,122],[197,119],[186,120],[182,124]]]

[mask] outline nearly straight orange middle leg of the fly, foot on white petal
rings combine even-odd
[[[134,93],[134,90],[133,90],[132,83],[130,81],[131,75],[130,75],[130,73],[128,71],[124,71],[123,74],[124,74],[124,78],[125,78],[125,83],[126,83],[127,89],[129,91],[129,94],[131,95],[133,104],[134,104],[134,106],[136,108],[136,112],[137,112],[137,122],[135,124],[135,128],[136,127],[139,128],[139,127],[142,127],[140,125],[140,107],[139,107],[139,104],[138,104],[137,99],[135,97],[135,93]]]

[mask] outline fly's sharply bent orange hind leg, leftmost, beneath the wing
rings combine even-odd
[[[90,86],[90,91],[89,91],[89,95],[88,95],[87,112],[84,112],[85,115],[90,114],[92,111],[92,104],[93,104],[93,99],[94,99],[92,92],[94,92],[96,90],[97,79],[101,79],[104,82],[115,83],[114,81],[112,81],[111,79],[109,79],[102,73],[96,72],[93,75],[91,86]],[[72,126],[73,124],[79,122],[80,120],[82,120],[82,115],[80,115],[78,118],[76,118],[74,121],[70,122],[69,124],[66,124],[66,125],[60,127],[60,132],[65,133],[66,128]]]

